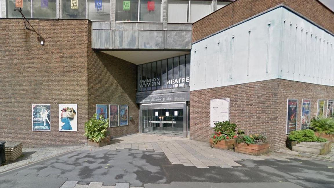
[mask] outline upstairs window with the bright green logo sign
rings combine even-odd
[[[116,0],[116,21],[138,21],[138,0]]]

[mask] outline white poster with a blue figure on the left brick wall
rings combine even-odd
[[[59,104],[59,131],[77,131],[76,104]]]

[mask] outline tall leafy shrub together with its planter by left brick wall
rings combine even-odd
[[[110,144],[109,132],[107,130],[109,119],[104,119],[102,115],[97,119],[98,114],[85,123],[85,136],[88,138],[88,145],[103,147]]]

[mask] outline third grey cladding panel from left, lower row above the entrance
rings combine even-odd
[[[139,31],[140,49],[164,49],[164,31]]]

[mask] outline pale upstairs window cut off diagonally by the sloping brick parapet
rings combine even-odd
[[[211,1],[190,1],[190,22],[195,22],[210,14]]]

